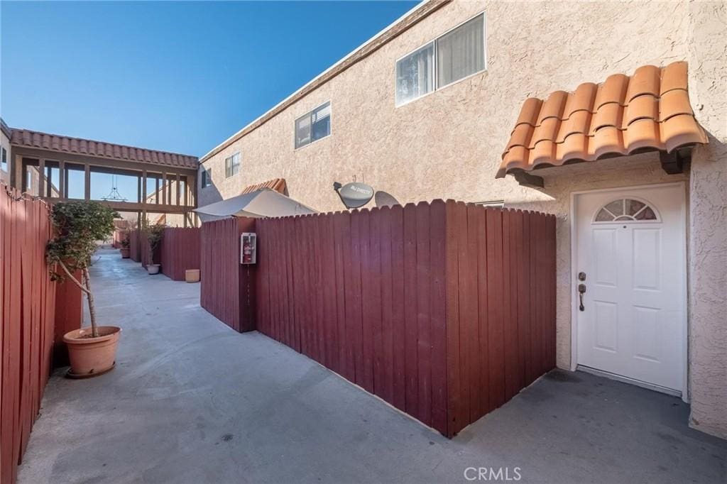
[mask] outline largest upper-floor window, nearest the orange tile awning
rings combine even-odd
[[[396,105],[485,70],[482,13],[396,61]]]

